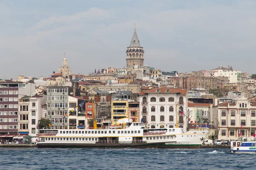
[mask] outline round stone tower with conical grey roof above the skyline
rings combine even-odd
[[[143,47],[140,46],[140,40],[136,33],[136,25],[134,26],[134,34],[131,39],[131,44],[126,50],[126,66],[132,67],[134,65],[143,66],[144,61]]]

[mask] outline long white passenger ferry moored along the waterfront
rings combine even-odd
[[[122,123],[120,123],[122,121]],[[188,131],[183,128],[146,128],[132,119],[118,120],[109,129],[42,129],[38,147],[136,147],[136,148],[199,148],[209,131]]]

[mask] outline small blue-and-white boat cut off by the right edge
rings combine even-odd
[[[243,137],[239,141],[231,141],[231,153],[256,153],[255,138]]]

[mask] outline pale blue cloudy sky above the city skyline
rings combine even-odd
[[[134,24],[144,65],[255,74],[256,0],[0,0],[0,79],[123,68]]]

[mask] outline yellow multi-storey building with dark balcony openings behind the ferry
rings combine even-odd
[[[128,117],[128,99],[112,99],[111,122],[116,125],[117,119]]]

